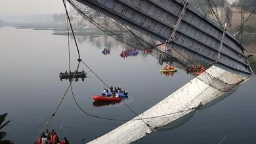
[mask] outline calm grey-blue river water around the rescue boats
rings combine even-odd
[[[51,33],[53,31],[0,27],[0,109],[1,113],[9,113],[7,120],[11,120],[4,128],[5,138],[15,143],[53,114],[69,84],[58,77],[58,73],[68,71],[68,37]],[[125,103],[138,114],[194,79],[182,69],[178,69],[173,77],[160,75],[163,66],[150,55],[120,58],[119,53],[127,46],[111,37],[77,37],[77,41],[83,62],[106,84],[125,86],[129,91]],[[74,39],[70,45],[74,71],[77,66]],[[111,48],[109,55],[101,53],[104,47]],[[89,71],[83,63],[81,69]],[[135,117],[124,103],[95,107],[92,96],[100,95],[104,84],[91,72],[87,76],[90,78],[83,82],[79,79],[72,86],[84,111],[107,118]],[[135,143],[219,143],[227,134],[223,143],[256,143],[255,84],[255,79],[250,79],[223,101],[196,111],[179,128],[150,134]],[[86,143],[123,123],[85,115],[75,105],[69,91],[47,128],[54,129],[60,139],[66,136],[70,143]],[[33,143],[42,128],[22,143]]]

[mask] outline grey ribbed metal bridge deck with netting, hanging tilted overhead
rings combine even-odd
[[[129,46],[150,48],[161,43],[232,73],[251,75],[244,46],[188,1],[68,1],[89,22]]]

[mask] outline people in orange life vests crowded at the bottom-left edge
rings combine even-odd
[[[36,144],[69,144],[69,141],[66,137],[64,137],[63,141],[58,139],[58,135],[54,130],[49,132],[47,129],[45,132],[42,133],[41,137],[37,139]]]

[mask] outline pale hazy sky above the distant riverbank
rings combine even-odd
[[[228,0],[230,3],[236,0]],[[70,5],[68,5],[68,8]],[[0,0],[0,16],[64,12],[62,0]]]

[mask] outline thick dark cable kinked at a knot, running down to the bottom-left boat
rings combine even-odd
[[[67,8],[66,8],[66,2],[65,2],[64,0],[62,0],[62,2],[63,2],[63,5],[64,5],[64,7],[65,7],[65,10],[66,10],[66,14],[67,14],[67,17],[68,17],[68,21],[70,22],[70,16],[68,16],[68,10],[67,10]],[[75,74],[74,74],[74,77],[75,77],[75,75],[76,75],[76,73],[77,73],[77,70],[78,70],[78,68],[79,68],[79,64],[80,64],[80,62],[81,62],[81,59],[80,59],[80,52],[79,52],[79,48],[78,48],[78,46],[77,46],[77,42],[76,42],[76,39],[75,39],[75,35],[74,35],[74,31],[73,31],[73,27],[72,27],[71,22],[70,22],[70,27],[71,27],[71,29],[72,29],[72,34],[73,34],[73,37],[74,37],[74,40],[75,40],[75,46],[76,46],[76,48],[77,48],[77,53],[78,53],[78,58],[79,58],[79,59],[77,59],[77,60],[78,60],[78,64],[77,64],[77,69],[76,69]],[[70,82],[68,88],[66,89],[66,92],[65,92],[64,96],[62,97],[60,103],[58,104],[57,109],[54,111],[53,115],[51,115],[49,122],[45,125],[45,127],[43,128],[43,130],[41,130],[40,134],[37,136],[37,139],[40,137],[40,135],[42,134],[42,132],[45,130],[45,128],[48,126],[48,124],[51,122],[51,120],[53,119],[54,115],[55,115],[56,112],[58,111],[58,108],[60,107],[60,105],[61,105],[63,99],[65,98],[65,96],[66,96],[68,90],[70,89],[70,86],[71,86],[72,82],[74,81],[74,77],[72,78],[72,81]],[[37,139],[35,139],[35,141],[37,141]]]

